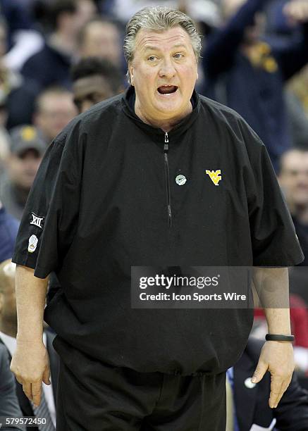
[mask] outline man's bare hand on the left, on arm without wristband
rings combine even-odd
[[[50,368],[47,349],[43,342],[17,340],[16,351],[11,361],[11,371],[23,385],[23,392],[35,406],[39,406],[42,382],[50,385]]]

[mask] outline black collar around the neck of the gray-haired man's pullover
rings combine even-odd
[[[135,100],[135,88],[133,86],[130,86],[126,92],[123,94],[122,97],[122,106],[123,111],[125,115],[128,115],[128,117],[132,118],[136,125],[140,127],[143,130],[147,130],[150,134],[155,135],[158,137],[161,141],[161,139],[164,139],[165,132],[160,127],[153,127],[152,125],[149,125],[147,123],[144,123],[140,118],[136,115],[135,109],[131,108],[131,101]],[[195,122],[197,119],[197,116],[199,115],[200,111],[200,101],[199,96],[197,92],[194,89],[194,92],[192,93],[192,98],[190,99],[192,101],[192,112],[188,114],[183,120],[180,121],[177,125],[175,125],[169,132],[168,136],[169,138],[176,138],[185,132],[192,123]],[[133,104],[133,106],[135,103]],[[176,142],[176,141],[175,141]]]

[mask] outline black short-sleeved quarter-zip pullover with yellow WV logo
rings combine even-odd
[[[292,266],[302,251],[266,148],[240,115],[194,92],[192,113],[166,134],[133,101],[130,87],[51,143],[13,261],[56,273],[45,320],[74,348],[140,372],[220,373],[242,354],[252,309],[131,308],[131,267]],[[207,170],[221,170],[217,186]]]

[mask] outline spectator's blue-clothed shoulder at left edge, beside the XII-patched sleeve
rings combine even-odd
[[[13,256],[19,222],[6,212],[0,201],[0,263]]]

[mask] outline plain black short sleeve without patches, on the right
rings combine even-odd
[[[254,266],[294,266],[304,255],[266,146],[245,123],[244,170]]]

